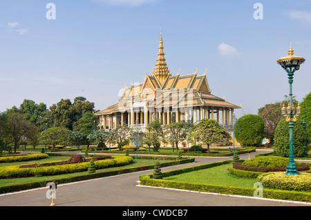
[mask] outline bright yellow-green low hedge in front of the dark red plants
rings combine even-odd
[[[133,161],[132,157],[115,156],[114,159],[95,161],[96,169],[124,166]],[[19,166],[7,166],[0,168],[0,179],[18,177],[42,177],[88,170],[88,162],[72,163],[58,166],[46,166],[38,168],[19,168]]]

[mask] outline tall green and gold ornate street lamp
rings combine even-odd
[[[288,83],[290,83],[290,103],[288,107],[285,108],[285,105],[281,108],[282,114],[286,117],[286,121],[289,121],[289,128],[290,128],[290,162],[288,163],[287,169],[285,174],[287,175],[294,175],[299,174],[297,172],[296,164],[294,163],[294,121],[296,121],[296,116],[300,114],[300,106],[295,108],[294,104],[292,103],[292,83],[294,79],[294,72],[299,70],[300,65],[305,61],[303,57],[294,56],[294,50],[292,50],[292,43],[290,44],[290,50],[288,50],[288,56],[282,57],[278,59],[276,62],[281,65],[281,67],[288,73]]]

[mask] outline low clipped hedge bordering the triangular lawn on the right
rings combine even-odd
[[[162,172],[162,177],[169,177],[176,174],[181,174],[184,172],[191,172],[194,170],[201,170],[205,168],[210,168],[213,166],[220,166],[225,163],[231,163],[231,161],[221,161],[216,163],[208,163],[201,166],[194,166],[191,168],[183,168],[178,170],[170,170],[167,172]],[[243,171],[243,170],[241,170]],[[248,197],[254,196],[254,191],[256,188],[242,188],[236,186],[219,186],[207,183],[189,183],[185,181],[172,181],[165,179],[152,179],[153,174],[140,176],[140,185],[142,186],[156,186],[161,188],[177,188],[182,190],[193,190],[198,192],[213,192],[220,194],[236,194]],[[298,192],[289,190],[273,190],[263,188],[263,197],[268,199],[283,199],[291,201],[311,201],[311,192]]]

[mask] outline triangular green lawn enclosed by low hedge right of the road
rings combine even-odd
[[[258,181],[257,179],[236,177],[230,174],[229,170],[227,170],[230,167],[232,167],[231,163],[222,166],[216,166],[214,168],[186,172],[171,177],[164,177],[163,179],[173,181],[187,181],[190,183],[208,183],[221,186],[240,186],[250,188],[252,188],[254,183]]]

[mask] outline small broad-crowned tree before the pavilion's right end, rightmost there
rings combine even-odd
[[[197,141],[207,144],[207,152],[212,143],[228,141],[230,134],[221,127],[217,121],[212,119],[202,119],[200,123],[194,126],[193,137]]]

